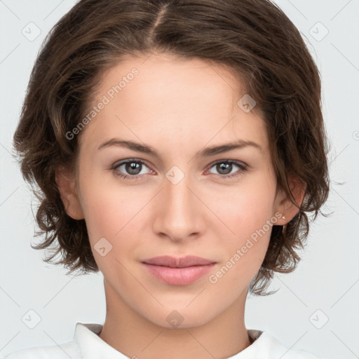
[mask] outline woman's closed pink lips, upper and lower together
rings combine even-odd
[[[145,259],[142,264],[153,276],[170,285],[189,285],[210,271],[216,262],[196,257],[161,256]]]

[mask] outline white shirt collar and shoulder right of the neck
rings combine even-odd
[[[248,334],[252,339],[252,344],[245,348],[239,355],[233,358],[238,359],[323,359],[318,356],[304,351],[302,349],[287,348],[273,337],[270,332],[262,332],[259,330],[248,330]]]

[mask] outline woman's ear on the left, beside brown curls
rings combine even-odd
[[[84,215],[72,173],[64,166],[59,166],[55,171],[55,182],[67,215],[73,219],[83,219]]]

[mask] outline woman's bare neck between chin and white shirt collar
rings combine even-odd
[[[204,325],[163,327],[128,306],[105,280],[107,314],[100,338],[129,358],[229,358],[250,346],[244,323],[246,289]]]

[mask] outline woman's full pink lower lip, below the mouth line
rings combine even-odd
[[[208,273],[215,263],[205,266],[187,266],[184,268],[171,268],[169,266],[156,266],[144,263],[149,273],[170,285],[189,285]]]

